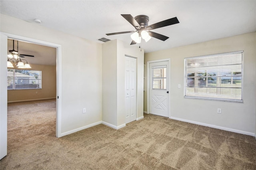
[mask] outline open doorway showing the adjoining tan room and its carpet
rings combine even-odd
[[[8,150],[56,133],[56,47],[8,38]],[[18,51],[18,60],[10,51]],[[16,62],[29,63],[20,68]],[[14,142],[16,141],[16,142]]]

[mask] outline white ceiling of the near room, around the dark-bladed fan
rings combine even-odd
[[[170,37],[165,42],[155,38],[142,41],[145,53],[256,32],[255,0],[1,0],[0,10],[28,22],[38,18],[42,26],[99,43],[99,38],[106,37],[130,44],[130,34],[106,36],[135,30],[120,14],[147,15],[149,25],[177,17],[179,24],[153,30]]]

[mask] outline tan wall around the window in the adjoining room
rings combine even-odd
[[[56,98],[56,65],[30,66],[30,70],[42,71],[42,89],[8,90],[8,102]]]

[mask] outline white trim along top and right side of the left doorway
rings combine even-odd
[[[61,45],[55,44],[55,43],[50,43],[50,42],[45,42],[41,40],[36,40],[32,38],[27,38],[27,37],[22,37],[14,34],[9,34],[9,33],[4,33],[1,32],[1,34],[4,34],[7,36],[7,38],[13,38],[16,40],[21,40],[21,41],[26,41],[26,42],[32,42],[40,45],[46,45],[46,46],[51,46],[51,47],[56,47],[56,137],[61,137],[61,98],[62,98],[62,68],[61,68]],[[2,46],[2,45],[1,45]],[[7,51],[7,49],[4,49]],[[2,51],[2,49],[1,49]],[[1,56],[2,57],[2,56]],[[3,56],[4,57],[4,56]],[[5,57],[5,60],[7,57]],[[1,59],[2,60],[2,59]],[[6,82],[6,91],[7,91],[7,82]],[[3,101],[1,101],[3,102]],[[7,103],[7,98],[6,98],[6,103]],[[1,114],[6,114],[7,113],[1,113]]]

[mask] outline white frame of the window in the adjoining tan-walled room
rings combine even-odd
[[[16,77],[17,77],[17,75],[16,75],[16,70],[25,70],[25,69],[13,69],[13,68],[8,68],[8,69],[10,69],[10,70],[13,70],[13,75],[12,75],[12,79],[8,79],[8,74],[7,74],[7,81],[8,80],[12,80],[12,89],[8,89],[8,87],[7,87],[7,90],[32,90],[32,89],[42,89],[42,71],[41,70],[26,70],[26,71],[40,71],[40,79],[38,79],[38,80],[40,80],[40,83],[38,83],[38,84],[40,84],[40,87],[39,88],[16,88],[16,80],[18,80]],[[8,70],[7,69],[7,70]],[[22,79],[23,80],[23,79]],[[30,83],[28,83],[28,85],[29,85]],[[8,86],[8,83],[7,83],[7,86]]]

